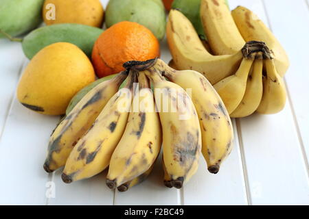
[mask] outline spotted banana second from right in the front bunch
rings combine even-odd
[[[163,130],[165,168],[170,184],[182,188],[196,171],[201,153],[201,127],[190,96],[176,83],[166,81],[159,70],[150,68],[155,62],[137,62],[131,69],[142,70],[152,81]]]

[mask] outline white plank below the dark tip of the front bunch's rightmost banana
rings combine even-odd
[[[208,172],[202,155],[198,172],[183,188],[185,205],[247,205],[247,192],[235,120],[233,150],[218,174]]]

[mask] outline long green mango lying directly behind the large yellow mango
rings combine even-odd
[[[93,44],[103,30],[98,27],[63,23],[35,29],[23,38],[22,47],[25,56],[30,60],[38,51],[55,42],[70,42],[82,49],[91,57]]]

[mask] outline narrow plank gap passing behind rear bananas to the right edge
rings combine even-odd
[[[304,0],[304,1],[305,1],[306,5],[308,6],[308,10],[309,10],[309,0]],[[264,11],[265,11],[265,14],[266,14],[266,19],[267,19],[268,27],[273,32],[273,28],[271,27],[271,19],[269,18],[269,15],[268,15],[268,11],[267,11],[267,8],[266,8],[265,0],[262,0],[262,5],[263,5],[263,8],[264,8]],[[298,141],[299,141],[299,146],[301,148],[301,155],[303,157],[304,164],[306,165],[307,177],[309,178],[309,164],[308,164],[308,159],[307,159],[307,156],[306,156],[306,150],[305,150],[305,146],[304,146],[304,141],[301,138],[301,132],[300,132],[299,124],[298,124],[298,121],[297,121],[297,116],[296,116],[296,113],[295,113],[293,101],[292,101],[292,99],[290,97],[290,91],[288,90],[288,83],[287,83],[285,78],[284,78],[284,83],[285,83],[285,86],[286,86],[286,95],[287,95],[286,104],[290,105],[290,112],[291,112],[291,114],[293,116],[293,122],[294,122],[295,129],[296,129],[296,132],[297,132],[297,138],[298,138]]]

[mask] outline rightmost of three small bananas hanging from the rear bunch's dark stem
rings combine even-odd
[[[268,58],[264,60],[266,77],[263,79],[263,96],[257,112],[260,114],[275,114],[283,110],[286,104],[286,87],[284,80],[277,73],[275,62]]]

